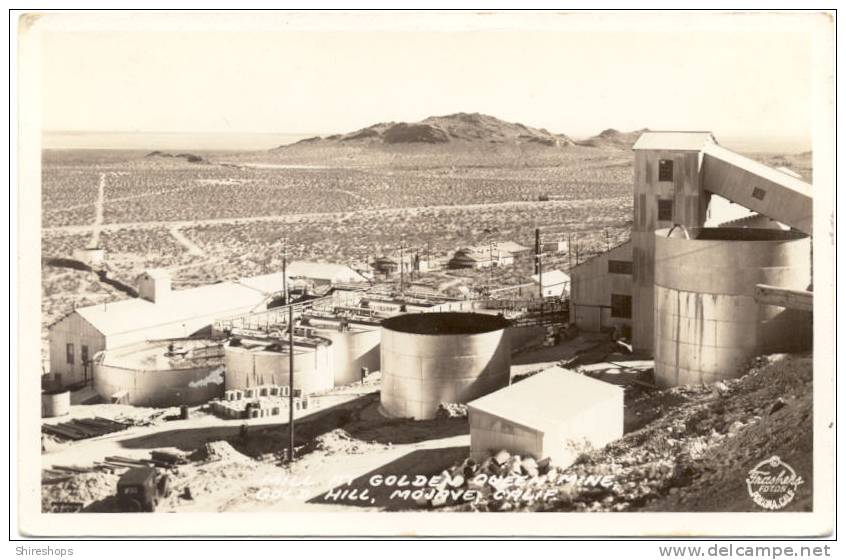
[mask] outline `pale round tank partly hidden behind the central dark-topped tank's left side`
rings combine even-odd
[[[379,369],[378,323],[340,319],[309,318],[315,334],[332,341],[334,386],[348,385],[361,379],[361,368]]]

